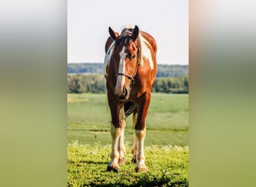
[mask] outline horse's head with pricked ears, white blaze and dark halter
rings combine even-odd
[[[138,27],[135,26],[131,35],[123,31],[121,35],[117,36],[111,28],[109,28],[109,34],[115,40],[115,49],[112,54],[115,59],[115,76],[117,76],[115,95],[121,101],[125,101],[129,99],[134,76],[137,73]]]

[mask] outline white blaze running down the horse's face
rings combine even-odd
[[[125,46],[123,46],[123,49],[121,52],[119,52],[120,55],[120,61],[119,61],[119,67],[118,67],[118,73],[125,73],[125,58],[127,56],[127,53],[125,51]],[[118,75],[117,85],[115,85],[116,93],[121,96],[124,94],[123,88],[125,84],[125,77]]]

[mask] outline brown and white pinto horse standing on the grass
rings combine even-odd
[[[133,113],[134,142],[132,162],[136,172],[147,172],[144,156],[145,118],[151,88],[156,77],[156,41],[138,26],[126,26],[121,34],[109,27],[106,41],[106,87],[112,116],[111,161],[107,171],[118,172],[125,164],[124,129]]]

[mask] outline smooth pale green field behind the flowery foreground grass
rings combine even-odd
[[[187,94],[152,93],[147,114],[145,145],[185,146],[188,138],[189,97]],[[110,111],[106,94],[68,94],[67,141],[81,144],[111,144]],[[127,118],[125,141],[132,142],[132,117]]]

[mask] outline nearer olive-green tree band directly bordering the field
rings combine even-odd
[[[102,74],[67,74],[67,93],[106,93]],[[152,92],[189,93],[189,77],[156,77]]]

